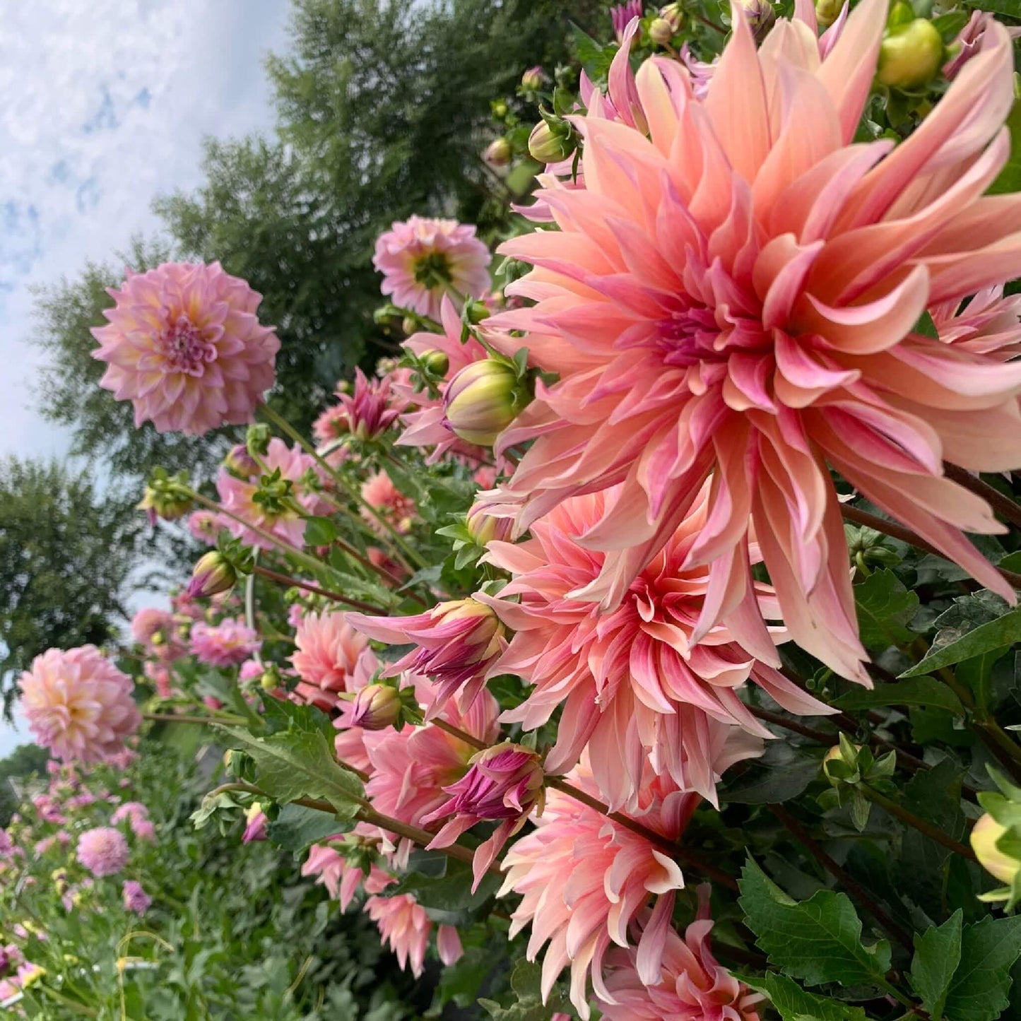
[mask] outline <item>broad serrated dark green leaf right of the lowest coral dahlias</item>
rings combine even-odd
[[[749,857],[741,870],[739,904],[770,963],[809,985],[886,987],[890,946],[862,944],[862,922],[843,893],[820,890],[791,900]]]

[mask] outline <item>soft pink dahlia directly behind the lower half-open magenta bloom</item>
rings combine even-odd
[[[496,699],[483,691],[470,710],[459,713],[450,702],[443,719],[477,740],[491,744],[499,733]],[[366,794],[373,808],[411,826],[424,825],[426,818],[449,800],[445,787],[456,783],[468,771],[478,750],[471,744],[433,724],[402,730],[363,733],[371,763]],[[410,844],[401,840],[397,864],[406,863]]]

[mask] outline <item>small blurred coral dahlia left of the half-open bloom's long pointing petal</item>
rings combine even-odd
[[[364,687],[379,668],[369,639],[341,611],[305,614],[294,642],[291,663],[301,678],[295,694],[324,712],[337,709],[340,694]]]

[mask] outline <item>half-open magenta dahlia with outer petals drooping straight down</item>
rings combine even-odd
[[[428,825],[453,816],[443,824],[430,847],[449,847],[476,823],[499,824],[475,853],[473,892],[503,845],[525,825],[532,810],[542,813],[544,780],[542,763],[531,748],[508,742],[494,744],[472,757],[469,771],[443,788],[450,799],[422,820]]]

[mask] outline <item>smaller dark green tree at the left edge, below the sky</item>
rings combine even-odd
[[[102,644],[144,579],[144,517],[56,461],[0,461],[0,679],[47,648]]]

